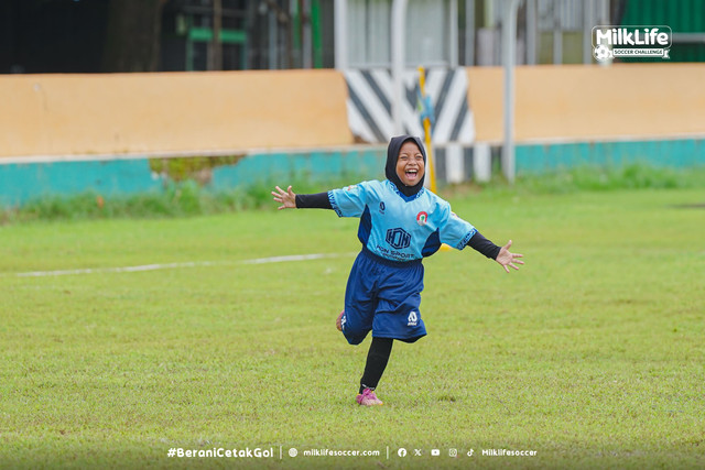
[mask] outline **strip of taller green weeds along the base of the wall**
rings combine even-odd
[[[352,181],[330,181],[326,185],[294,182],[297,193],[317,193],[344,187]],[[324,187],[325,186],[325,187]],[[481,192],[517,192],[532,194],[565,194],[578,190],[615,190],[633,188],[705,188],[705,168],[657,168],[634,164],[619,168],[583,167],[542,175],[521,175],[513,185],[500,175],[490,183],[474,184]],[[163,190],[131,196],[106,196],[88,192],[74,196],[55,196],[32,200],[21,207],[0,210],[0,222],[30,220],[160,218],[188,217],[250,209],[273,210],[270,186],[251,186],[214,192],[193,179],[172,182]],[[448,196],[452,188],[441,188]]]

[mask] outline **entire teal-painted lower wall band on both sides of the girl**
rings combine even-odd
[[[589,165],[705,166],[705,140],[517,145],[517,175]],[[307,153],[260,153],[213,170],[208,187],[311,183],[340,184],[384,177],[384,147]],[[163,190],[166,178],[137,160],[0,164],[0,206],[17,207],[46,196],[93,192],[104,196]]]

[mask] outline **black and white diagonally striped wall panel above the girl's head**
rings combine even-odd
[[[348,122],[352,134],[362,141],[387,143],[394,134],[392,117],[393,80],[389,69],[349,70]],[[403,77],[402,125],[404,132],[423,136],[417,109],[419,72]],[[475,140],[475,123],[467,102],[467,76],[463,68],[426,70],[426,95],[431,96],[435,113],[432,129],[434,145],[470,144]]]

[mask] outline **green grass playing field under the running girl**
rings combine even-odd
[[[705,209],[681,206],[705,190],[451,201],[527,264],[426,260],[429,336],[395,343],[377,408],[354,402],[369,340],[334,326],[356,219],[0,226],[0,467],[704,468]],[[246,262],[310,253],[332,256]],[[274,457],[167,457],[247,447]]]

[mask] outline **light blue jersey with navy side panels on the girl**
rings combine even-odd
[[[333,189],[328,199],[338,217],[360,218],[362,247],[391,261],[430,256],[442,243],[463,250],[477,232],[435,194],[422,188],[406,197],[388,179]]]

